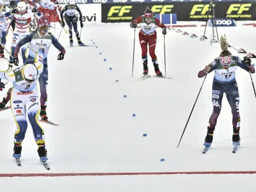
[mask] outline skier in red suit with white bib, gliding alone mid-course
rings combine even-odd
[[[148,60],[147,60],[147,46],[149,46],[149,54],[152,58],[152,62],[155,68],[157,76],[163,76],[162,72],[159,70],[157,63],[157,56],[155,54],[156,49],[156,26],[163,29],[163,35],[166,35],[166,26],[160,22],[159,19],[154,17],[154,13],[147,7],[144,12],[145,15],[141,15],[137,19],[133,20],[130,24],[131,28],[136,28],[137,24],[140,23],[141,30],[139,33],[141,51],[142,51],[142,62],[143,62],[143,74],[148,74]]]

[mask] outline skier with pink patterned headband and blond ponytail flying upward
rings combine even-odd
[[[210,147],[213,139],[213,132],[217,124],[218,116],[221,111],[221,102],[223,93],[226,93],[228,103],[232,109],[233,124],[233,145],[240,145],[240,114],[239,114],[239,92],[236,83],[236,70],[238,67],[243,68],[247,72],[255,73],[255,68],[251,65],[250,58],[244,57],[242,61],[237,56],[232,56],[228,51],[226,38],[221,36],[221,49],[223,50],[219,58],[216,58],[204,70],[200,70],[198,77],[204,77],[205,74],[214,70],[215,76],[212,83],[212,105],[213,111],[207,127],[207,136],[205,137],[205,147]]]

